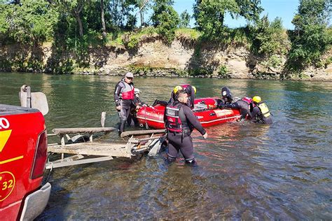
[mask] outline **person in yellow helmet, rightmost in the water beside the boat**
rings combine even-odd
[[[268,106],[262,101],[261,97],[252,98],[254,107],[251,111],[251,122],[261,124],[272,124],[272,118]]]

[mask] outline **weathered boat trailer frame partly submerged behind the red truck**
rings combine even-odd
[[[49,134],[49,136],[60,136],[60,143],[48,144],[48,152],[50,155],[54,153],[61,155],[60,159],[53,161],[50,159],[54,157],[48,157],[46,169],[102,162],[114,157],[132,158],[146,152],[148,156],[152,157],[160,152],[162,144],[165,143],[165,129],[125,131],[121,137],[124,141],[127,138],[127,143],[108,143],[92,139],[95,133],[109,133],[114,130],[117,131],[113,127],[53,129],[54,134]],[[78,135],[70,137],[69,134]],[[142,137],[144,135],[147,137]],[[67,138],[67,142],[64,138]],[[81,140],[82,143],[76,143],[77,140]]]

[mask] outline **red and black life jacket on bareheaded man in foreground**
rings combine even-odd
[[[181,108],[184,106],[184,104],[172,102],[171,104],[168,104],[165,109],[165,115],[166,115],[166,128],[167,131],[172,132],[178,132],[178,133],[184,133],[184,131],[188,131],[189,127],[184,120],[184,117],[181,117]],[[183,113],[182,113],[183,115]],[[182,118],[182,120],[181,120]]]

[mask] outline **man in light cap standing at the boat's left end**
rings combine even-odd
[[[130,114],[130,106],[133,105],[134,101],[133,78],[134,75],[131,72],[126,73],[125,78],[116,84],[116,89],[114,90],[114,101],[116,102],[116,110],[118,110],[120,118],[120,124],[118,127],[119,135],[125,129],[125,122]]]

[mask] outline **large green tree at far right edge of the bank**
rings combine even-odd
[[[321,55],[332,43],[332,36],[328,34],[330,17],[331,0],[300,0],[298,13],[292,20],[295,29],[286,66],[289,71],[298,72],[320,63]]]

